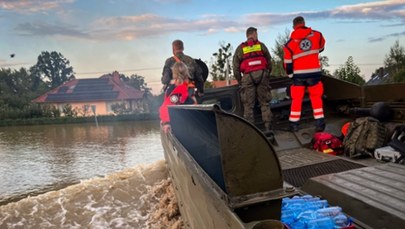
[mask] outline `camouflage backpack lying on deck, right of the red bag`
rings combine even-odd
[[[350,158],[373,156],[374,150],[384,145],[385,135],[385,127],[378,119],[357,118],[343,140],[344,152]]]

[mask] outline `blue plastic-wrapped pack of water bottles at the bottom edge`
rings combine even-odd
[[[354,228],[341,207],[329,206],[327,200],[311,195],[283,198],[281,221],[290,229]]]

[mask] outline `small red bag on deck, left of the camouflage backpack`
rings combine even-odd
[[[312,138],[312,148],[316,151],[339,155],[343,153],[343,144],[342,141],[327,132],[317,132]]]

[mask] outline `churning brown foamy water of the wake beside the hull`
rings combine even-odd
[[[184,228],[165,161],[0,206],[0,228]]]

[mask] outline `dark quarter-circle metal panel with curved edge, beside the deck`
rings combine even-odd
[[[217,112],[225,185],[230,196],[282,189],[277,155],[263,133],[238,116]]]

